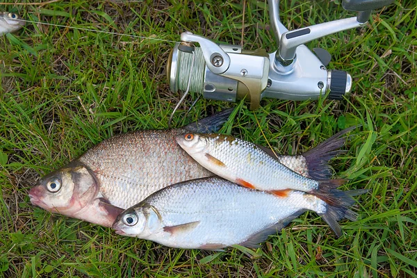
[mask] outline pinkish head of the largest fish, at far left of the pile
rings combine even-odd
[[[31,188],[31,203],[52,213],[73,217],[98,193],[94,174],[81,163],[70,163],[51,172]]]

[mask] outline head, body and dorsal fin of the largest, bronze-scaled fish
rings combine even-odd
[[[116,216],[173,183],[213,176],[175,142],[183,132],[214,132],[233,109],[179,129],[133,131],[100,142],[29,190],[31,203],[104,227]]]

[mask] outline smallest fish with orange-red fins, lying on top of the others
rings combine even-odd
[[[337,134],[336,138],[339,136],[340,134]],[[280,161],[271,156],[263,147],[232,136],[214,133],[185,133],[177,136],[176,140],[195,161],[214,174],[238,183],[240,186],[268,191],[280,197],[285,196],[291,189],[317,195],[326,202],[334,202],[329,199],[332,194],[328,193],[340,187],[344,182],[343,179],[318,180],[306,177],[286,167],[282,159]],[[332,141],[327,142],[327,145],[332,145]],[[320,166],[323,164],[320,164],[320,161],[314,163],[311,163],[309,167],[316,170],[309,171],[309,175],[315,171],[327,172],[329,170],[327,165],[325,169],[322,169]],[[313,176],[320,177],[315,174]],[[321,176],[327,177],[327,174]]]

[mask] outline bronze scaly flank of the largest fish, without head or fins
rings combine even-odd
[[[172,140],[183,132],[186,129],[114,136],[92,147],[79,161],[95,171],[108,202],[127,208],[170,184],[213,176]]]

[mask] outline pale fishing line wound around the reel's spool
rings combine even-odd
[[[178,88],[181,91],[187,90],[189,83],[190,92],[202,94],[206,60],[204,60],[203,51],[200,47],[194,48],[194,56],[195,60],[193,65],[192,53],[178,51]]]

